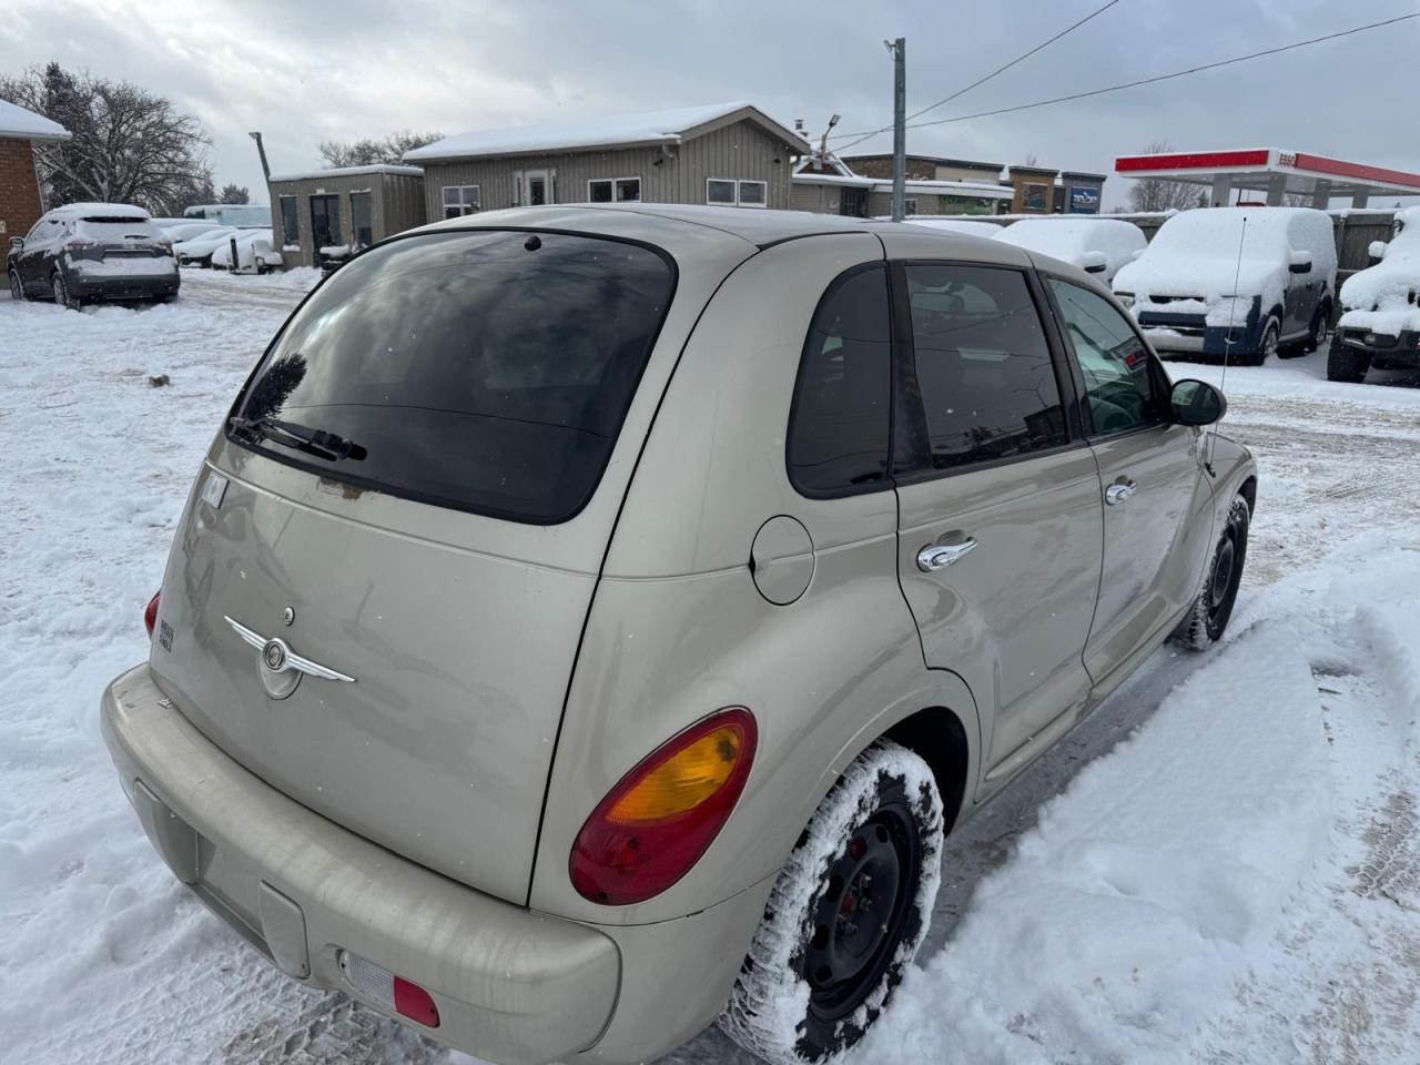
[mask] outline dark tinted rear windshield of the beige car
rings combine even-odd
[[[669,258],[639,244],[498,230],[396,240],[301,307],[236,409],[337,433],[364,457],[233,439],[406,498],[565,521],[601,480],[673,288]]]

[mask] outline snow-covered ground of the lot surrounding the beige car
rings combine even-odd
[[[98,736],[200,456],[312,280],[0,301],[0,1059],[466,1061],[258,960]],[[855,1062],[1420,1061],[1420,375],[1323,371],[1228,369],[1262,487],[1227,645],[1156,653],[949,841]],[[672,1061],[747,1058],[707,1032]]]

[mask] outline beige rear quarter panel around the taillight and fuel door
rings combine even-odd
[[[639,924],[713,906],[780,868],[838,772],[896,720],[946,706],[976,736],[960,680],[923,666],[895,574],[893,491],[809,500],[785,469],[814,308],[838,274],[880,257],[875,237],[856,234],[770,247],[730,275],[696,328],[588,618],[532,907]],[[787,606],[760,595],[748,568],[754,537],[775,514],[795,518],[814,544],[809,586]],[[758,753],[707,853],[645,903],[578,896],[568,856],[586,815],[648,753],[727,706],[755,716]]]

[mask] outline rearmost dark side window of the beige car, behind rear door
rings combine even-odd
[[[790,415],[790,480],[805,496],[888,486],[890,338],[885,267],[829,285],[804,342]]]

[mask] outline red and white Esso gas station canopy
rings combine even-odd
[[[1333,196],[1349,196],[1353,207],[1365,207],[1372,195],[1420,196],[1420,173],[1278,148],[1122,155],[1115,160],[1115,173],[1211,187],[1214,206],[1233,203],[1234,189],[1261,193],[1274,207],[1287,193],[1301,193],[1322,210]]]

